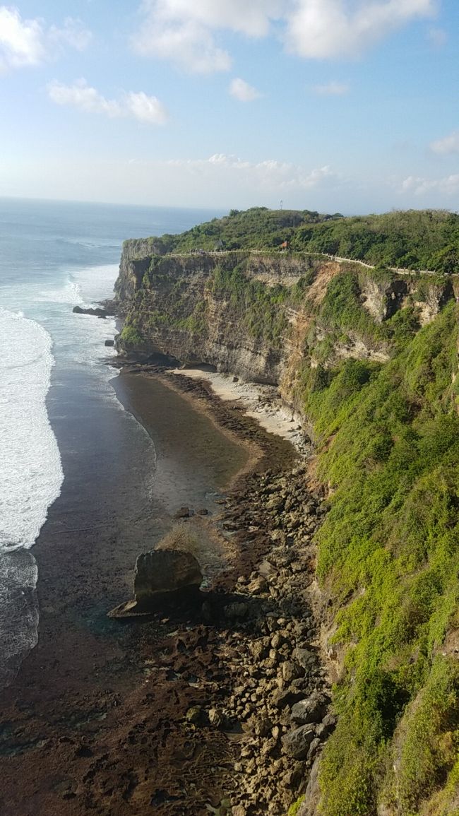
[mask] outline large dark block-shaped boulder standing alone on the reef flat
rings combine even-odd
[[[134,600],[127,601],[108,613],[111,618],[149,614],[157,610],[158,601],[172,593],[199,589],[201,568],[190,552],[182,550],[151,550],[135,561]]]

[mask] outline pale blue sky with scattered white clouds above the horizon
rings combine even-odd
[[[458,0],[0,3],[0,196],[459,210]]]

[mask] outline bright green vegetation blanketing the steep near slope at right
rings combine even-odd
[[[457,774],[459,667],[441,654],[459,601],[457,343],[450,302],[385,366],[347,360],[319,384],[303,370],[320,476],[333,488],[318,574],[346,654],[322,761],[324,816],[375,814],[384,796],[414,816]]]

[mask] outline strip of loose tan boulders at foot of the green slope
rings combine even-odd
[[[308,592],[312,536],[325,508],[305,487],[306,477],[304,465],[249,477],[245,497],[239,491],[228,497],[218,521],[242,549],[251,549],[258,536],[267,544],[263,561],[238,577],[238,600],[223,609],[232,623],[228,693],[206,712],[211,725],[241,729],[234,816],[286,814],[306,791],[335,722]]]

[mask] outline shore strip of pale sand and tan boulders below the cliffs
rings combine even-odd
[[[233,755],[236,775],[232,775],[232,781],[231,776],[227,779],[226,788],[229,784],[234,790],[232,809],[223,808],[219,813],[286,816],[298,796],[306,795],[302,813],[309,814],[307,808],[318,794],[320,752],[336,724],[329,708],[329,673],[321,659],[320,623],[316,617],[316,549],[312,538],[326,508],[322,507],[324,494],[307,487],[311,447],[306,441],[298,444],[297,426],[293,429],[297,437],[293,460],[284,462],[286,469],[275,468],[273,472],[267,468],[272,437],[287,441],[293,448],[292,417],[283,413],[280,399],[273,409],[267,396],[270,388],[241,384],[231,375],[200,369],[165,370],[148,364],[130,364],[127,369],[136,375],[161,379],[236,439],[241,439],[241,428],[235,431],[231,422],[228,428],[223,419],[228,408],[241,417],[254,419],[261,434],[258,456],[237,474],[226,491],[226,499],[220,502],[223,512],[210,521],[224,543],[228,535],[234,536],[241,551],[238,569],[235,571],[233,565],[229,573],[217,574],[214,583],[217,592],[228,594],[228,588],[232,590],[228,596],[231,603],[222,606],[221,596],[216,604],[212,598],[214,626],[225,627],[219,656],[226,653],[231,669],[223,685],[226,707],[209,707],[207,701],[205,707],[198,707],[199,711],[190,709],[187,716],[191,712],[196,727],[210,725],[222,731],[233,747],[237,746]],[[262,400],[258,400],[260,392]],[[250,433],[249,439],[253,446]],[[281,581],[276,574],[279,568]],[[241,574],[234,583],[238,572]],[[205,605],[209,605],[210,597],[211,593]],[[266,614],[264,621],[260,612]],[[236,653],[231,642],[234,634],[227,642],[227,634],[235,624]],[[263,658],[264,671],[260,671]],[[241,690],[245,693],[241,694]],[[222,688],[217,698],[221,703]],[[295,714],[295,703],[305,707],[307,714]],[[220,805],[227,801],[222,800]]]

